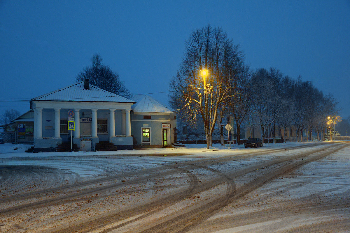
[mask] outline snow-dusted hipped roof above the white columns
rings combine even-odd
[[[31,99],[33,100],[135,103],[131,99],[118,96],[94,85],[90,85],[89,89],[84,89],[84,82],[51,91]]]

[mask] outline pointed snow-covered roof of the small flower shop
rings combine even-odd
[[[168,106],[159,103],[151,96],[141,96],[137,103],[131,106],[133,112],[156,112],[156,113],[176,113],[176,111]]]

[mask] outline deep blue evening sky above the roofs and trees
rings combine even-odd
[[[166,92],[185,40],[208,23],[240,44],[252,68],[301,75],[350,115],[349,0],[2,0],[0,114],[24,113],[31,98],[76,83],[97,52],[132,93]],[[168,102],[167,93],[151,96]]]

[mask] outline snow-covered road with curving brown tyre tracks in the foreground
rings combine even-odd
[[[349,152],[337,142],[7,154],[0,232],[350,232]]]

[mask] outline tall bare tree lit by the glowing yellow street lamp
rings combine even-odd
[[[221,28],[210,25],[194,30],[185,47],[180,69],[170,83],[169,103],[193,125],[202,118],[209,148],[217,119],[222,117],[219,109],[232,96],[231,80],[243,52]],[[209,73],[204,78],[200,74],[203,69]]]

